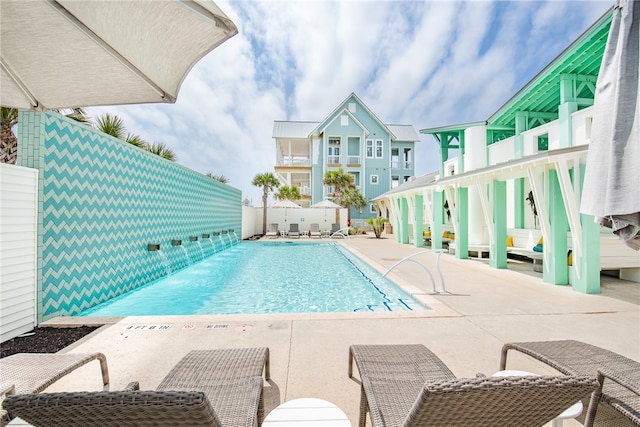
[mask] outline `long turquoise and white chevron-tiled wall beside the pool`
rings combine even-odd
[[[205,233],[240,234],[240,190],[58,113],[21,111],[19,123],[18,162],[40,170],[39,321],[77,314],[232,240]]]

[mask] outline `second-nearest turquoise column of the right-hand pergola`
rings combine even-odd
[[[542,280],[555,285],[566,285],[569,283],[569,270],[567,264],[567,232],[569,231],[569,220],[562,200],[558,173],[550,170],[547,174],[549,179],[549,239],[544,241],[543,247],[546,258],[542,269]]]

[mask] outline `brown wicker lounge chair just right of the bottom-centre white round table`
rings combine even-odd
[[[551,421],[597,387],[589,377],[457,379],[423,345],[353,345],[360,372],[360,427],[531,426]]]

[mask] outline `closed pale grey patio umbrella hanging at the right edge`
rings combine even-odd
[[[582,213],[640,249],[640,2],[620,0],[596,84]]]

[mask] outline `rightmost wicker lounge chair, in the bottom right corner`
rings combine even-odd
[[[500,369],[507,352],[519,351],[566,375],[598,377],[600,386],[578,419],[585,426],[640,426],[640,362],[581,341],[508,343],[502,347]]]

